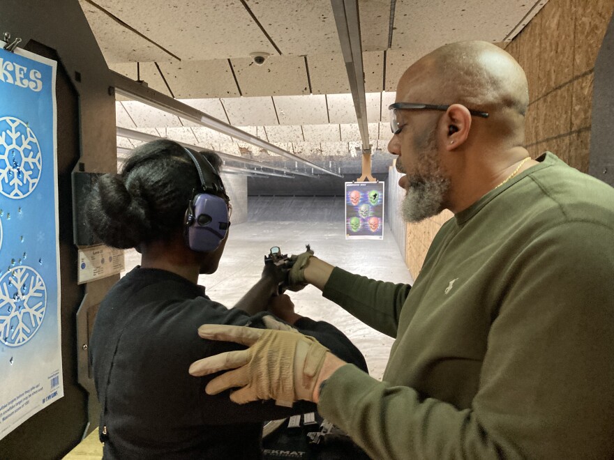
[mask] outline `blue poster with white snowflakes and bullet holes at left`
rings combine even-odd
[[[63,396],[56,63],[0,41],[0,439]]]

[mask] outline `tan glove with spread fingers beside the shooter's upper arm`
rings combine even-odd
[[[313,401],[313,390],[328,348],[313,337],[285,330],[254,329],[234,325],[205,324],[198,328],[203,339],[247,345],[241,351],[227,351],[198,360],[190,374],[204,376],[234,369],[207,384],[208,394],[237,388],[230,399],[245,404],[258,399],[275,399],[279,406],[294,401]]]

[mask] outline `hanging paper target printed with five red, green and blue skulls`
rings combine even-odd
[[[345,183],[345,239],[384,238],[384,183]]]

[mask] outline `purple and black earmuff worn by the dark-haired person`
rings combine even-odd
[[[187,148],[186,153],[198,170],[202,192],[188,202],[186,210],[186,243],[191,250],[209,252],[215,250],[226,237],[230,227],[228,196],[222,179],[200,153],[194,155]],[[219,194],[223,197],[218,196]]]

